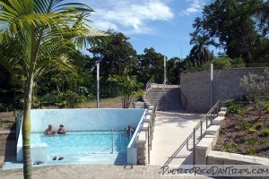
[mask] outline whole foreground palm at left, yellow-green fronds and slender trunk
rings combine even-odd
[[[72,70],[65,55],[75,43],[85,47],[104,35],[87,25],[93,10],[65,0],[0,0],[0,63],[24,91],[22,149],[23,175],[31,177],[30,108],[32,88],[42,72],[58,66]],[[69,1],[70,2],[70,1]]]

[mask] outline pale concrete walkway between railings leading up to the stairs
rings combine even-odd
[[[180,166],[192,165],[192,152],[180,145],[193,132],[193,128],[204,117],[201,114],[178,112],[157,112],[150,165]],[[190,146],[191,147],[191,146]]]

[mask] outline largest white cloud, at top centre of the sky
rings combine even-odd
[[[151,21],[170,21],[174,14],[165,0],[106,0],[89,4],[97,13],[91,20],[100,30],[119,30],[124,33],[152,33]]]

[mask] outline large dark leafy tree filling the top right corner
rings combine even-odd
[[[213,0],[204,6],[202,17],[195,19],[192,36],[208,36],[230,58],[242,57],[245,63],[259,62],[269,53],[264,51],[268,49],[268,37],[263,33],[268,28],[268,15],[263,16],[268,14],[265,4],[268,3],[263,0]]]

